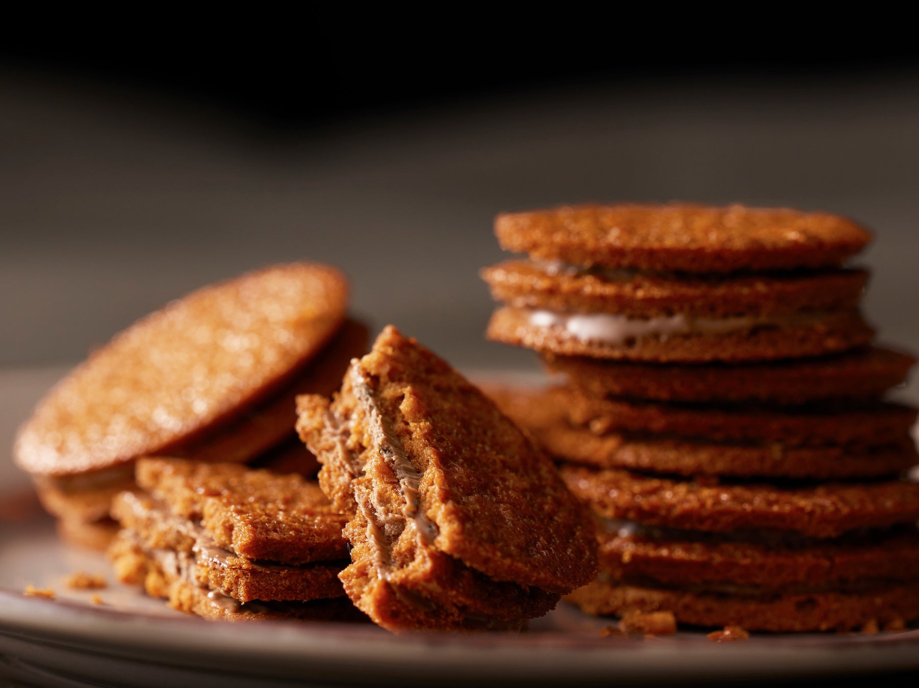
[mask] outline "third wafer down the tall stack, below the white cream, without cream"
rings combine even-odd
[[[740,363],[836,354],[869,344],[874,334],[861,315],[850,310],[789,322],[783,327],[672,333],[665,337],[649,334],[605,343],[579,339],[560,325],[534,322],[533,315],[539,312],[511,307],[495,310],[487,336],[542,354],[661,363]]]

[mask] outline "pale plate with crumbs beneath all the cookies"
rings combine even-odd
[[[60,370],[0,373],[0,409],[22,418]],[[11,398],[14,398],[12,399]],[[9,446],[11,437],[0,437]],[[0,464],[0,513],[21,484]],[[20,495],[20,490],[15,490]],[[919,669],[919,630],[877,636],[756,636],[715,644],[703,633],[601,637],[608,620],[562,603],[528,633],[393,636],[375,626],[203,621],[169,610],[128,586],[71,591],[76,570],[103,573],[105,559],[63,546],[51,519],[24,500],[18,520],[0,516],[0,682],[86,684],[289,685],[311,683],[710,681]],[[24,597],[28,584],[58,597]]]

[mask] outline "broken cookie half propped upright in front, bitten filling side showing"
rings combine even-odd
[[[350,521],[339,574],[392,631],[519,628],[596,574],[591,519],[549,457],[459,373],[387,327],[330,401],[298,398]]]

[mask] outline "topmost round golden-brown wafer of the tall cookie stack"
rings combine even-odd
[[[505,250],[533,258],[693,273],[834,266],[871,239],[852,220],[823,212],[689,204],[505,213],[494,233]]]

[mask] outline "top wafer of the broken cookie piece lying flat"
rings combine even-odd
[[[221,547],[252,559],[302,564],[347,558],[347,522],[319,486],[235,464],[168,458],[137,463],[137,483],[170,512],[200,520]]]

